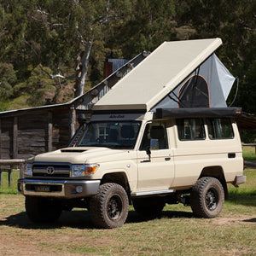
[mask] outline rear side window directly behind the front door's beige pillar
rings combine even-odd
[[[177,133],[181,141],[201,140],[206,138],[203,119],[177,119]]]

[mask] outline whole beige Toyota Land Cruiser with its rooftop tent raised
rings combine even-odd
[[[98,227],[125,223],[129,204],[158,215],[182,202],[218,216],[227,183],[244,183],[235,78],[214,51],[220,38],[164,42],[95,101],[67,148],[27,160],[18,181],[34,222],[84,207]],[[107,95],[104,95],[108,92]],[[84,105],[83,105],[84,104]]]

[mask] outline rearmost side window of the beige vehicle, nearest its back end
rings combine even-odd
[[[209,138],[229,139],[234,137],[234,131],[230,119],[207,119]]]

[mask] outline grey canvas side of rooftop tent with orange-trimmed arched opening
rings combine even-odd
[[[224,108],[235,78],[212,54],[154,108]]]

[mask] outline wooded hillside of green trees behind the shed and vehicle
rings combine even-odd
[[[253,0],[5,0],[1,101],[65,102],[102,80],[109,55],[131,59],[164,41],[219,37],[218,56],[240,79],[235,105],[255,113],[255,24]]]

